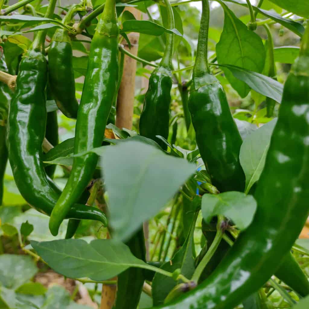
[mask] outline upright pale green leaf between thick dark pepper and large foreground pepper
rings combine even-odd
[[[240,147],[240,164],[246,176],[245,192],[249,192],[253,184],[259,180],[265,165],[270,138],[277,119],[270,121],[251,133]]]

